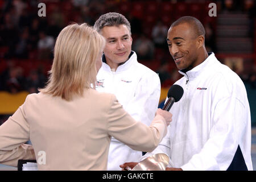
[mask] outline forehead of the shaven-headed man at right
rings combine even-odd
[[[175,38],[187,38],[193,34],[192,28],[187,23],[181,23],[174,27],[170,27],[167,34],[167,40],[173,40]]]

